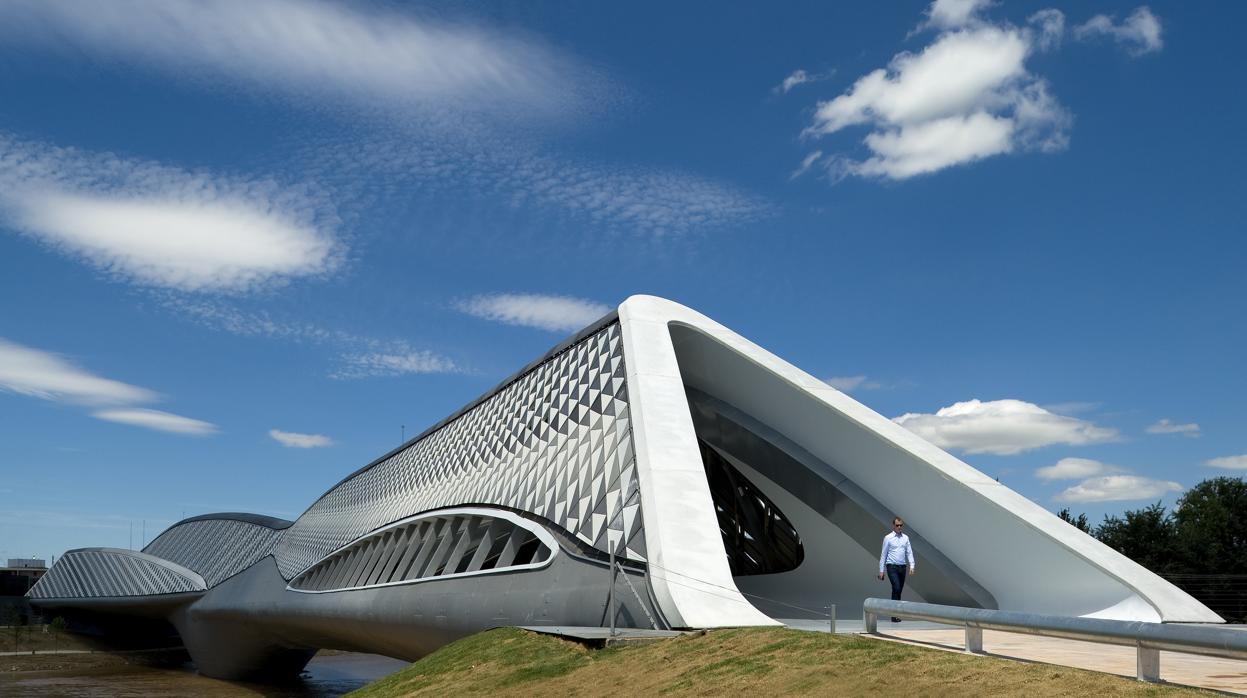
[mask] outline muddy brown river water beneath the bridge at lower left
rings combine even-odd
[[[173,668],[106,666],[74,671],[0,672],[0,696],[31,698],[263,697],[328,698],[349,693],[397,672],[407,662],[377,654],[318,654],[298,679],[281,684],[201,677],[191,664]]]

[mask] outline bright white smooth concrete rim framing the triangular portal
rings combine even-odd
[[[754,611],[751,614],[741,607],[748,602],[736,590],[727,570],[668,329],[671,324],[702,333],[767,371],[774,380],[819,403],[828,416],[834,415],[869,430],[887,446],[933,470],[948,487],[973,495],[970,501],[994,510],[995,516],[1005,516],[1059,543],[1129,590],[1130,593],[1122,595],[1116,605],[1085,614],[1162,622],[1223,622],[1210,608],[1150,570],[701,313],[662,298],[633,295],[620,305],[619,315],[626,348],[628,390],[635,403],[637,470],[650,560],[655,563],[655,593],[673,622],[682,618],[686,627],[701,623],[707,627],[761,624],[748,621],[761,613]],[[803,439],[792,434],[787,436],[811,447]],[[817,449],[811,450],[817,455]],[[873,494],[878,496],[878,492]],[[929,509],[909,506],[929,496],[929,492],[905,492],[884,504],[897,511]],[[936,543],[940,543],[939,538],[949,540],[958,535],[954,531],[932,536],[930,531],[939,530],[943,524],[935,519],[910,521],[928,531],[928,538]],[[1054,578],[1059,578],[1059,572],[1054,572]],[[1131,600],[1131,593],[1137,601]],[[1145,603],[1155,617],[1134,617],[1150,614],[1139,602]],[[766,621],[773,622],[769,618]]]

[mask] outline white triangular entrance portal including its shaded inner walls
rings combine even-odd
[[[918,551],[907,587],[918,601],[1221,622],[1142,566],[697,312],[633,297],[620,323],[651,585],[676,624],[766,622],[754,603],[778,617],[831,602],[854,614],[863,598],[887,592],[873,572],[894,514]],[[797,570],[728,572],[697,450],[715,423],[734,434],[711,445],[801,533]],[[751,452],[766,456],[743,460]],[[753,603],[732,588],[756,595]]]

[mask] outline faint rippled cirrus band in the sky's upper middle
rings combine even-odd
[[[594,231],[681,236],[777,214],[728,182],[676,168],[591,162],[489,133],[379,131],[359,142],[313,142],[298,156],[344,191],[454,191],[587,222]]]

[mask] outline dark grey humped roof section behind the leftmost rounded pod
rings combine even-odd
[[[143,552],[195,570],[208,587],[273,552],[282,532],[246,521],[187,521],[147,543]]]

